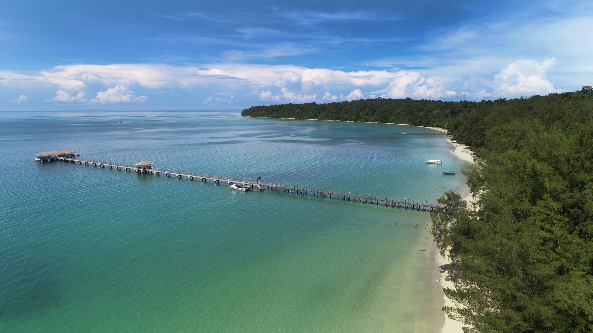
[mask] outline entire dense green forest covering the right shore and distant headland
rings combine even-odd
[[[439,199],[432,234],[448,255],[466,332],[593,331],[593,88],[514,100],[363,100],[253,107],[245,116],[445,127],[477,152],[464,170],[477,214]]]

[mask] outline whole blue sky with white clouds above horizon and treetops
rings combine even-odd
[[[573,91],[591,27],[590,1],[6,1],[0,110]]]

